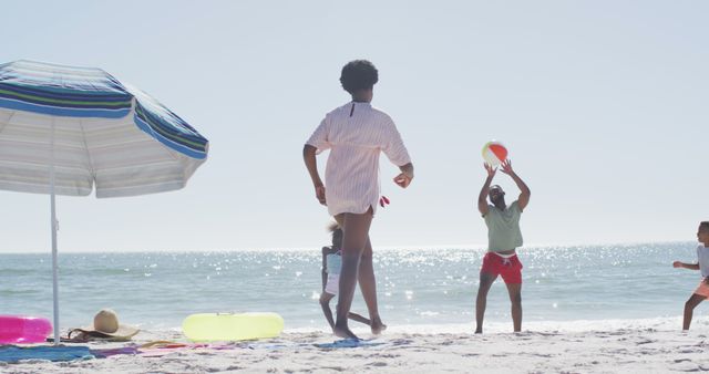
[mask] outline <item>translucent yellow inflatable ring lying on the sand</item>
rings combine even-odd
[[[229,342],[276,337],[284,330],[277,313],[198,313],[182,322],[182,331],[193,342]]]

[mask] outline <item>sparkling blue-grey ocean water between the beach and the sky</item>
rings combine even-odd
[[[524,264],[524,323],[568,326],[575,321],[644,319],[678,323],[700,274],[674,269],[671,262],[695,262],[696,246],[523,248],[518,253]],[[384,323],[472,329],[483,254],[481,249],[376,250]],[[112,308],[123,323],[146,330],[177,329],[192,313],[246,311],[277,312],[286,329],[327,329],[318,303],[319,248],[60,253],[59,262],[62,331],[90,324],[102,308]],[[706,308],[700,305],[696,318],[701,319]],[[352,311],[367,315],[359,291]],[[0,314],[51,319],[49,253],[0,254]],[[499,279],[487,299],[486,322],[511,328],[510,321],[507,292]]]

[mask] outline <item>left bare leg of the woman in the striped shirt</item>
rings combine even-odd
[[[369,238],[369,227],[372,222],[371,209],[368,212],[343,214],[336,217],[342,227],[342,270],[340,270],[340,292],[337,302],[337,319],[332,331],[340,337],[354,337],[347,322],[352,299],[354,298],[354,288],[359,273],[359,262],[362,251],[367,246]]]

